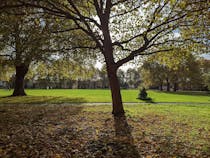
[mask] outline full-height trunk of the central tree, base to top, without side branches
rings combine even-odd
[[[111,1],[107,2],[107,6],[111,8]],[[100,11],[98,10],[98,12]],[[105,57],[106,68],[109,78],[109,85],[112,94],[112,114],[114,116],[122,116],[124,115],[125,112],[123,109],[122,97],[120,93],[120,84],[117,78],[118,67],[114,61],[112,39],[109,31],[109,16],[110,16],[109,9],[105,10],[105,13],[101,12],[99,14],[102,26],[101,29],[104,36],[103,48],[101,48],[101,51]]]

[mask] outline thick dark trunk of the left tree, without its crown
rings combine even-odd
[[[12,96],[25,96],[26,93],[24,91],[24,78],[26,73],[28,72],[28,66],[26,66],[25,64],[21,64],[16,66],[15,69],[15,87]]]

